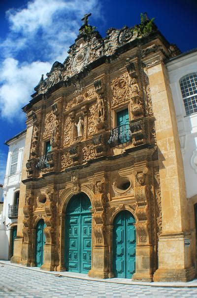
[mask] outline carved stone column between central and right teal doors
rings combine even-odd
[[[96,183],[93,213],[93,257],[89,276],[108,278],[107,244],[106,244],[106,212],[105,186],[103,181]]]

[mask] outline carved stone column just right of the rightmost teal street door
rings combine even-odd
[[[133,171],[135,176],[134,196],[136,200],[136,266],[133,280],[153,281],[153,246],[150,234],[148,169],[138,168]]]

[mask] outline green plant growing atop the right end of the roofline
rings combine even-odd
[[[138,37],[151,33],[154,30],[154,23],[153,23],[154,19],[155,18],[152,18],[151,20],[149,20],[145,13],[141,13],[140,14],[141,23],[139,25],[135,25],[131,29],[131,31],[137,32]]]

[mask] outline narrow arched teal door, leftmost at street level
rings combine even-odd
[[[36,235],[35,235],[35,265],[40,267],[43,264],[44,256],[44,245],[46,242],[44,235],[44,228],[46,223],[43,219],[40,219],[36,226]]]

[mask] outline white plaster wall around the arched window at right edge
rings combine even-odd
[[[167,63],[183,156],[187,198],[197,194],[197,113],[186,116],[179,80],[197,72],[197,51]]]

